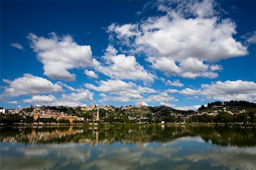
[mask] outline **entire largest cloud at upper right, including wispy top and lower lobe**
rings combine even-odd
[[[220,68],[209,62],[248,54],[246,46],[233,38],[236,23],[220,18],[213,1],[158,1],[157,5],[166,14],[137,24],[112,24],[108,32],[130,52],[146,54],[147,61],[166,75],[216,78],[214,71]]]

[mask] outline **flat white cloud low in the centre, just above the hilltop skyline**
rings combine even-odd
[[[102,92],[101,101],[131,101],[143,99],[142,94],[156,93],[152,88],[137,86],[133,82],[124,82],[122,80],[100,80],[99,86],[90,83],[85,83],[85,87],[91,90]],[[106,95],[104,93],[110,94]]]

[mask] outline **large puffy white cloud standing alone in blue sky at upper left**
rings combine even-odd
[[[69,69],[92,65],[92,51],[89,45],[78,45],[70,35],[58,37],[54,32],[49,38],[28,35],[31,48],[44,64],[44,75],[51,79],[74,81],[76,75]]]

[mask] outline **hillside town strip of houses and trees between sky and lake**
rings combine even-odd
[[[5,124],[151,124],[171,122],[239,122],[255,123],[256,104],[247,101],[216,101],[197,111],[181,111],[167,106],[143,104],[114,107],[36,107],[0,109],[1,125]]]

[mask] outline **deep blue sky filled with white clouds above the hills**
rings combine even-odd
[[[1,1],[0,106],[256,101],[256,1]]]

